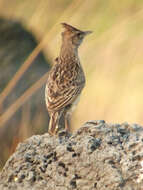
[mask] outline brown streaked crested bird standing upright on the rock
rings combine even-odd
[[[61,23],[64,31],[59,56],[49,71],[45,88],[45,102],[50,121],[48,132],[56,135],[59,121],[64,117],[64,127],[70,131],[71,113],[79,101],[85,86],[85,74],[78,56],[83,39],[92,31],[82,31],[67,23]]]

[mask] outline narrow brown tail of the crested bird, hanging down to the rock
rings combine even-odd
[[[48,132],[50,134],[56,134],[57,128],[58,128],[58,122],[59,122],[58,112],[52,113],[50,115],[50,122],[49,122],[49,128],[48,128]]]

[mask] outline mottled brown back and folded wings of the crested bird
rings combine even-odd
[[[57,111],[72,103],[81,93],[84,81],[80,80],[77,64],[56,64],[49,73],[45,89],[47,108]]]

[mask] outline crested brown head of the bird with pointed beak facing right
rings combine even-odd
[[[62,23],[62,26],[65,29],[64,32],[62,32],[63,41],[69,42],[75,47],[79,47],[84,37],[92,33],[91,31],[81,31],[66,23]]]

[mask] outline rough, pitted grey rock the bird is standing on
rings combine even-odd
[[[32,136],[7,161],[0,189],[143,190],[143,128],[101,120]]]

